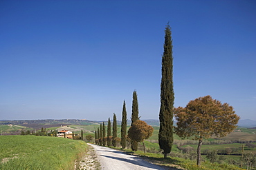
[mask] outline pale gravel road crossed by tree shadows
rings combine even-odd
[[[91,145],[91,144],[89,144]],[[101,169],[104,170],[130,170],[130,169],[158,169],[164,170],[165,168],[146,162],[137,156],[128,155],[122,151],[117,151],[108,147],[101,147],[98,145],[91,145],[98,156],[101,164]],[[165,169],[166,170],[166,169]]]

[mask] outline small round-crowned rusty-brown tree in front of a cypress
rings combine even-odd
[[[146,153],[144,140],[148,139],[153,134],[153,127],[147,125],[143,120],[137,120],[128,130],[128,136],[136,142],[143,142],[144,153]]]

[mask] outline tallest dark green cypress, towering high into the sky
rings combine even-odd
[[[165,43],[163,49],[158,144],[160,148],[163,149],[164,158],[167,158],[167,153],[172,151],[174,116],[172,32],[169,23],[167,23],[165,28]]]

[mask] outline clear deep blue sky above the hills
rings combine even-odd
[[[175,107],[210,95],[256,120],[256,1],[0,1],[0,120],[158,119],[165,25]]]

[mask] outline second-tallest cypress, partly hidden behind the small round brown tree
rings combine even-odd
[[[131,126],[138,119],[138,96],[136,90],[134,90],[134,93],[132,94]],[[131,149],[133,151],[138,150],[138,142],[136,140],[131,139]]]

